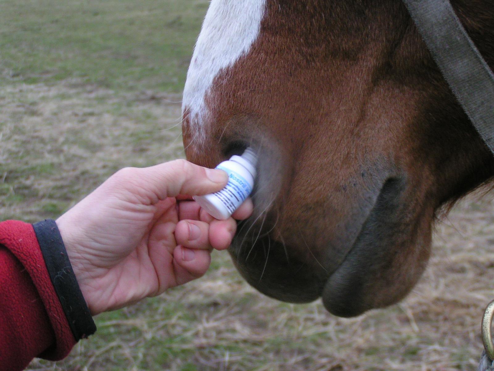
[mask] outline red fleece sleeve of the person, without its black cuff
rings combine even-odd
[[[0,223],[0,370],[60,360],[76,343],[31,224]]]

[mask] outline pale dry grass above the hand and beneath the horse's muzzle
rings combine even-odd
[[[55,217],[119,167],[181,156],[173,96],[65,81],[0,89],[0,212]],[[215,254],[205,278],[97,317],[63,362],[29,370],[475,370],[494,297],[494,203],[473,195],[434,237],[429,268],[401,304],[355,319],[320,302],[266,298]]]

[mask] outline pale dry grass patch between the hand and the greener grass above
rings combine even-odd
[[[177,99],[78,80],[1,88],[1,215],[54,217],[121,167],[182,156]]]

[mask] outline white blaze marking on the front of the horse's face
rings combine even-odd
[[[182,111],[201,125],[214,77],[246,54],[259,35],[266,0],[212,0],[187,72]],[[197,117],[195,117],[197,116]],[[195,128],[199,129],[199,127]]]

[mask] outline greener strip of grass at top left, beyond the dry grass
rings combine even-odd
[[[206,7],[206,0],[2,0],[1,80],[76,78],[180,92]]]

